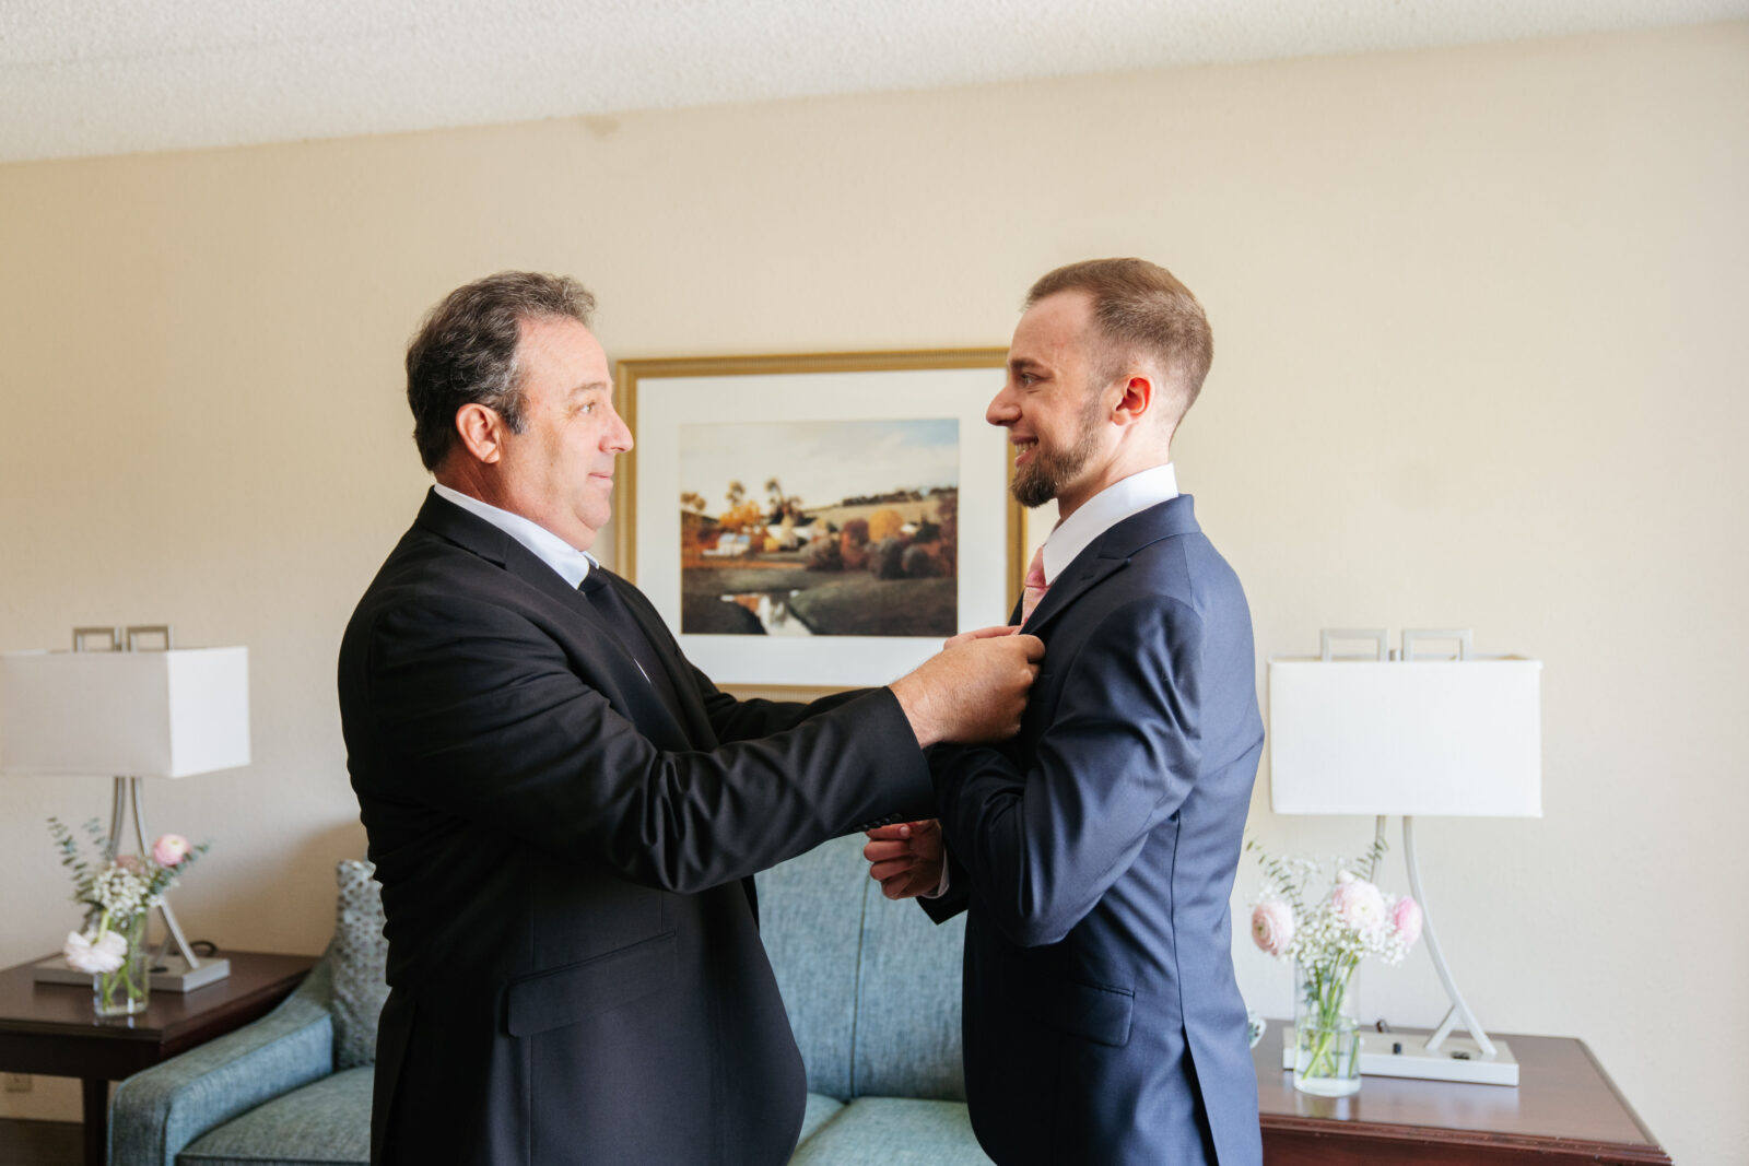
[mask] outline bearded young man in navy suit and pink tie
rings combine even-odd
[[[1179,495],[1172,435],[1214,351],[1170,273],[1039,280],[988,420],[1014,496],[1056,498],[1021,631],[1020,734],[934,750],[941,825],[871,832],[888,895],[965,923],[972,1129],[1002,1166],[1254,1166],[1258,1087],[1228,893],[1263,748],[1251,612]]]

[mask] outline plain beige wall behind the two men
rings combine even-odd
[[[0,649],[166,619],[247,643],[255,764],[154,787],[152,825],[215,843],[192,933],[318,951],[364,846],[334,650],[418,503],[397,365],[437,295],[575,273],[616,357],[1000,344],[1046,267],[1147,255],[1216,325],[1177,462],[1259,661],[1354,624],[1546,661],[1546,816],[1424,823],[1471,1003],[1586,1038],[1679,1161],[1723,1163],[1746,110],[1739,23],[5,166]],[[0,785],[0,963],[72,920],[42,818],[105,794]],[[1252,818],[1275,850],[1369,829],[1272,816],[1266,774]],[[1287,970],[1238,946],[1280,1016]],[[1364,975],[1368,1016],[1438,1019],[1425,956]],[[7,1103],[72,1105],[33,1098]]]

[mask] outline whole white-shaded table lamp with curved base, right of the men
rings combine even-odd
[[[1471,654],[1469,631],[1404,631],[1392,654],[1378,629],[1331,631],[1317,657],[1270,661],[1270,808],[1284,815],[1403,816],[1410,893],[1452,1002],[1424,1042],[1362,1038],[1361,1072],[1502,1086],[1518,1063],[1490,1040],[1464,1003],[1434,935],[1432,909],[1415,860],[1417,816],[1541,818],[1541,661]],[[1338,657],[1334,640],[1371,640],[1366,657]],[[1417,640],[1457,640],[1457,656],[1427,659]],[[1469,1038],[1453,1038],[1462,1021]],[[1404,1044],[1392,1054],[1387,1044]]]

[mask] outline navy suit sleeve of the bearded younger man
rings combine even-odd
[[[1013,942],[1063,939],[1189,795],[1202,643],[1191,608],[1135,600],[1083,642],[1034,757],[967,748],[937,767],[948,850]]]

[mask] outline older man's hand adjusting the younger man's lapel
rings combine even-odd
[[[972,745],[1020,732],[1027,691],[1039,675],[1044,642],[986,628],[955,636],[916,671],[892,682],[892,694],[922,746]]]

